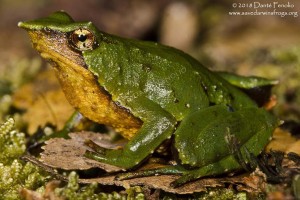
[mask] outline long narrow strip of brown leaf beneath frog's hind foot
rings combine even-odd
[[[206,191],[207,188],[224,187],[225,184],[235,185],[239,191],[258,193],[264,190],[266,184],[264,177],[252,173],[250,175],[243,174],[240,176],[226,178],[202,178],[190,183],[186,183],[178,188],[171,187],[170,183],[179,177],[179,175],[159,175],[118,181],[115,180],[115,176],[106,176],[91,179],[79,179],[79,182],[97,182],[101,185],[117,185],[124,188],[138,185],[175,194],[193,194],[195,192]]]

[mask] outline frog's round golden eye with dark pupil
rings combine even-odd
[[[95,45],[94,34],[87,29],[77,29],[70,33],[70,43],[80,51],[91,50]]]

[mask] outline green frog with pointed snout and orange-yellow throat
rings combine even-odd
[[[213,72],[181,50],[112,35],[64,11],[18,26],[52,65],[69,103],[128,140],[116,149],[86,142],[87,158],[127,171],[119,179],[175,174],[178,187],[241,170],[233,141],[242,157],[257,156],[280,124],[241,90],[276,81]],[[167,140],[175,163],[130,172]]]

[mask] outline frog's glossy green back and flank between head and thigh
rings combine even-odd
[[[88,53],[85,55],[91,70],[121,104],[144,95],[178,120],[211,104],[227,104],[236,109],[254,105],[197,60],[171,47],[119,38],[100,44],[95,53],[99,56],[93,60],[89,60]]]

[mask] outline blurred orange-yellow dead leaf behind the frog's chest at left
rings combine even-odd
[[[39,74],[32,83],[16,91],[13,105],[26,111],[22,119],[28,124],[29,134],[33,134],[39,126],[44,127],[47,123],[60,130],[74,112],[52,70]]]

